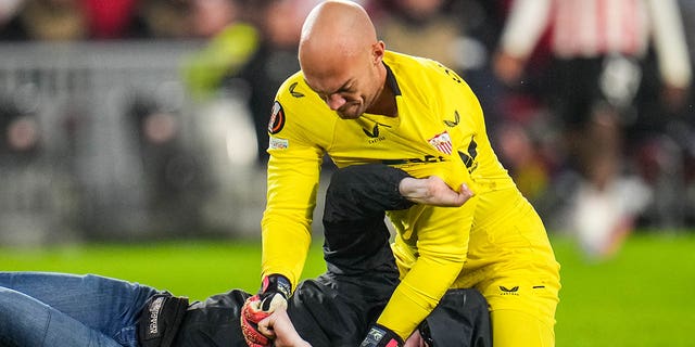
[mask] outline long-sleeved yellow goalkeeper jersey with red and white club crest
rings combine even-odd
[[[301,72],[280,87],[268,125],[262,270],[281,273],[296,285],[326,153],[338,167],[377,162],[418,178],[437,175],[454,189],[466,183],[476,196],[462,207],[416,205],[389,214],[397,230],[394,253],[407,265],[400,264],[402,283],[379,323],[407,337],[455,286],[473,220],[480,224],[495,218],[494,209],[478,208],[478,200],[485,192],[516,188],[491,147],[476,95],[459,76],[435,61],[391,51],[383,63],[397,117],[342,119],[308,88]]]

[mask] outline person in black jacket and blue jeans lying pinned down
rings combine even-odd
[[[357,346],[397,284],[383,210],[413,202],[460,205],[470,197],[443,184],[383,165],[338,170],[324,211],[328,271],[302,282],[289,299],[293,326],[283,316],[250,317],[247,335],[258,338],[252,343],[274,343],[254,335],[258,319],[276,346],[298,346],[288,339],[299,336],[313,346]],[[266,290],[281,282],[274,279]],[[275,297],[268,291],[262,295]],[[150,286],[96,275],[0,272],[0,345],[245,346],[240,312],[250,297],[233,290],[189,305]],[[268,332],[268,324],[278,329]],[[282,335],[288,324],[291,334]],[[475,290],[450,291],[413,338],[430,346],[491,346],[484,298]]]

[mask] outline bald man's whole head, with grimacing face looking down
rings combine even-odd
[[[377,40],[369,15],[354,2],[321,2],[302,27],[299,60],[304,80],[342,118],[358,118],[384,103],[383,56],[384,44]]]

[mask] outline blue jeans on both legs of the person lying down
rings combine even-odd
[[[156,290],[98,275],[0,272],[0,346],[137,347]]]

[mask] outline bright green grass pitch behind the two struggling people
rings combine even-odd
[[[553,244],[563,266],[557,346],[693,346],[695,234],[634,234],[602,262],[586,261],[569,239],[553,237]],[[192,299],[237,287],[255,292],[260,262],[256,242],[0,247],[3,271],[97,273]],[[317,244],[304,277],[324,270]]]

